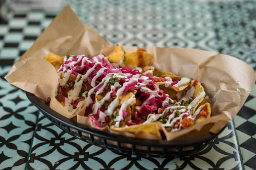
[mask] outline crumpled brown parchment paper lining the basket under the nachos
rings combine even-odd
[[[123,47],[125,51],[136,51],[137,47]],[[66,54],[108,55],[114,46],[101,37],[96,31],[82,23],[70,6],[66,6],[55,17],[52,23],[38,37],[35,43],[12,66],[6,80],[18,88],[35,94],[42,100],[51,97],[50,107],[58,113],[73,118],[91,128],[98,128],[87,117],[83,116],[85,103],[73,113],[67,112],[55,99],[58,75],[55,68],[44,60],[49,52],[64,56]],[[149,47],[146,51],[154,58],[153,65],[162,71],[171,71],[179,76],[197,79],[203,85],[212,108],[212,117],[185,130],[168,133],[167,140],[179,139],[186,134],[203,134],[207,131],[217,133],[240,110],[255,82],[253,68],[245,62],[224,54],[186,48]],[[210,128],[202,128],[212,125]],[[103,130],[103,129],[100,129]],[[107,133],[117,133],[105,127]],[[121,135],[136,137],[135,134]],[[145,138],[158,139],[150,134]],[[184,138],[183,138],[184,139]]]

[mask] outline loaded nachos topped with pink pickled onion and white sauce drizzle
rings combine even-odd
[[[98,127],[159,134],[209,118],[209,103],[198,108],[205,96],[200,82],[155,71],[153,59],[143,49],[128,52],[120,45],[107,57],[48,54],[46,58],[58,67],[58,102],[70,112],[84,104],[84,116]]]

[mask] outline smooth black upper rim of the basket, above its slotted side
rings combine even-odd
[[[151,140],[151,139],[132,138],[132,137],[126,137],[121,135],[111,135],[109,133],[105,133],[100,130],[84,127],[84,125],[81,125],[78,122],[73,121],[72,119],[68,119],[65,116],[62,116],[61,114],[57,113],[56,111],[52,110],[47,105],[45,105],[45,103],[41,99],[39,99],[37,96],[35,96],[35,94],[29,93],[26,91],[26,96],[29,99],[29,101],[33,105],[35,105],[35,107],[38,108],[39,111],[41,111],[41,113],[49,116],[50,118],[54,119],[56,122],[59,122],[63,125],[71,127],[80,132],[87,133],[93,136],[98,136],[102,139],[107,139],[107,140],[112,140],[112,141],[127,143],[127,144],[135,144],[135,145],[151,146],[151,147],[189,147],[189,146],[194,146],[204,142],[208,142],[209,140],[214,139],[225,129],[225,127],[227,127],[227,125],[224,126],[218,133],[208,132],[203,136],[199,136],[189,140],[170,140],[170,141]]]

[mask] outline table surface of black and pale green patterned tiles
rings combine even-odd
[[[256,69],[256,1],[68,0],[84,23],[121,45],[219,51]],[[52,125],[4,76],[57,12],[10,12],[0,20],[0,169],[256,169],[256,86],[206,149],[180,159],[119,155]],[[253,77],[252,77],[253,78]]]

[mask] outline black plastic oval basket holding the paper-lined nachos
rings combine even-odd
[[[177,158],[193,155],[207,147],[225,128],[217,134],[209,132],[195,139],[184,141],[148,140],[113,136],[99,130],[81,127],[72,119],[68,119],[53,111],[34,94],[26,92],[26,96],[47,119],[75,138],[113,152],[141,157]]]

